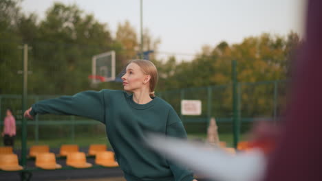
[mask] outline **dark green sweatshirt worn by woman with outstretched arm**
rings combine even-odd
[[[116,160],[128,181],[193,180],[191,171],[174,165],[142,143],[146,130],[186,138],[178,114],[159,97],[147,104],[136,104],[133,95],[122,90],[88,90],[39,101],[32,105],[30,114],[77,115],[104,123]]]

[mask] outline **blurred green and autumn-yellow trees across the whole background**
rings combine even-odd
[[[129,60],[138,58],[140,40],[129,21],[118,25],[114,38],[107,24],[98,22],[93,14],[83,12],[76,5],[54,3],[40,21],[36,14],[21,13],[19,2],[0,1],[0,94],[21,93],[22,50],[18,48],[24,43],[32,47],[28,51],[30,95],[72,95],[87,89],[122,88],[114,82],[93,87],[87,76],[92,73],[91,60],[97,53],[116,51],[116,73],[122,71]],[[143,40],[144,51],[157,51],[160,38],[153,38],[149,29],[144,29]],[[226,84],[222,90],[213,89],[213,99],[217,100],[213,111],[229,117],[231,60],[237,60],[238,82],[285,80],[290,76],[289,64],[298,45],[299,36],[290,32],[286,37],[261,34],[238,44],[222,41],[214,47],[204,46],[191,62],[177,62],[175,57],[161,61],[152,55],[151,61],[160,75],[156,93]],[[271,115],[266,107],[272,106],[272,92],[272,85],[241,86],[242,114],[246,117]],[[186,93],[189,94],[194,93],[191,90]],[[204,90],[200,93],[205,94]],[[169,97],[165,99],[179,110],[180,91],[173,95],[168,92],[162,97]],[[220,111],[217,111],[219,106]]]

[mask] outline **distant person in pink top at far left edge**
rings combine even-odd
[[[6,146],[14,146],[14,136],[16,136],[16,119],[12,115],[12,110],[7,108],[6,118],[3,121],[3,144]]]

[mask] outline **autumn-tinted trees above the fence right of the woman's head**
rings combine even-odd
[[[262,34],[245,38],[240,44],[219,43],[203,47],[191,62],[175,63],[174,58],[159,64],[162,90],[227,84],[231,80],[231,60],[237,60],[239,82],[285,80],[290,55],[299,45],[299,36],[287,38]],[[169,64],[172,64],[169,66]]]

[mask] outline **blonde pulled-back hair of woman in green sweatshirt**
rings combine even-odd
[[[131,60],[129,64],[135,63],[137,64],[144,74],[150,75],[150,87],[149,87],[149,95],[150,97],[155,97],[154,89],[156,84],[158,83],[158,70],[155,65],[149,60]]]

